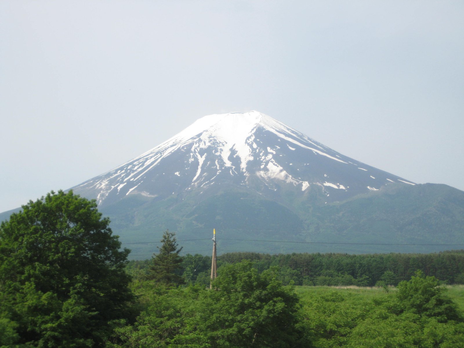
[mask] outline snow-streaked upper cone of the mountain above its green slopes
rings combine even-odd
[[[155,148],[73,189],[97,199],[100,206],[130,195],[163,200],[214,194],[221,187],[246,188],[271,199],[283,191],[304,196],[315,190],[325,203],[392,183],[414,185],[250,111],[204,116]]]

